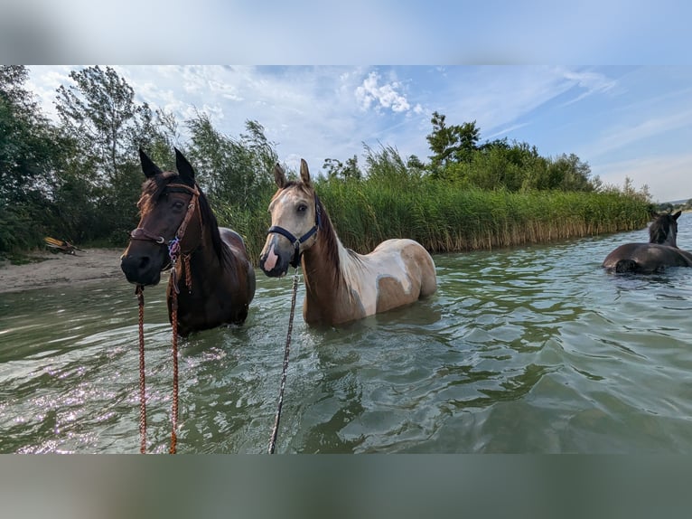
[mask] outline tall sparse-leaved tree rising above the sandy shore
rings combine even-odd
[[[55,100],[61,133],[75,148],[61,201],[65,209],[70,203],[93,204],[94,211],[86,215],[97,214],[96,219],[73,222],[79,229],[89,227],[84,239],[123,241],[136,224],[143,180],[137,148],[162,137],[154,127],[152,110],[146,103],[136,103],[135,91],[114,69],[71,71],[70,80],[58,88]],[[70,201],[70,194],[77,198]]]

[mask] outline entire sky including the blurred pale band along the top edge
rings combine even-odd
[[[47,63],[136,63],[113,66],[138,101],[229,137],[256,120],[289,167],[364,145],[425,161],[438,111],[667,202],[692,198],[691,18],[673,0],[10,0],[0,61],[46,63],[27,86],[49,114],[70,67]]]

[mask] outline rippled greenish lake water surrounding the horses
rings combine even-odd
[[[692,249],[691,214],[679,228]],[[692,269],[605,273],[626,241],[646,231],[436,255],[435,297],[342,328],[297,311],[276,452],[692,452]],[[291,284],[258,271],[246,325],[180,342],[179,452],[267,452]],[[166,452],[164,287],[145,298]],[[136,325],[124,279],[0,294],[0,452],[138,452]]]

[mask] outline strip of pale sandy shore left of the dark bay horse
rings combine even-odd
[[[32,258],[41,259],[25,265],[0,263],[0,293],[17,292],[33,288],[83,284],[107,278],[122,278],[120,254],[122,249],[86,249],[70,254],[52,254],[38,251]]]

